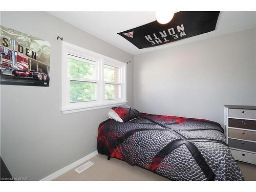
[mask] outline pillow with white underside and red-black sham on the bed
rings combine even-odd
[[[122,105],[122,106],[116,106],[112,108],[108,116],[110,119],[114,119],[119,122],[127,122],[132,119],[138,118],[140,112],[133,109],[131,106]]]

